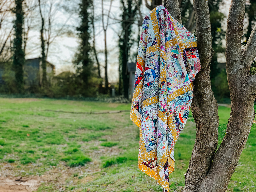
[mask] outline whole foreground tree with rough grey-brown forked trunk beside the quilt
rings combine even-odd
[[[172,3],[170,3],[172,2]],[[256,76],[249,72],[256,52],[256,27],[245,49],[241,49],[246,0],[232,0],[227,21],[226,68],[231,95],[231,114],[226,134],[218,146],[218,104],[210,81],[212,35],[208,2],[194,0],[196,35],[201,70],[194,81],[192,114],[197,132],[184,192],[224,192],[246,144],[256,97]],[[167,2],[171,15],[177,16],[178,0]],[[170,3],[170,4],[169,4]],[[179,20],[181,21],[181,20]],[[217,149],[217,150],[216,150]]]

